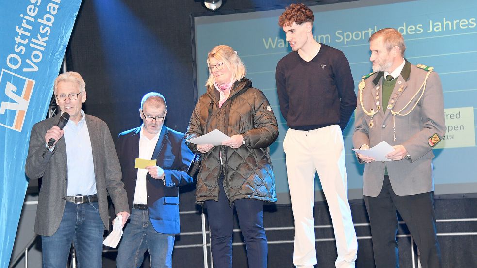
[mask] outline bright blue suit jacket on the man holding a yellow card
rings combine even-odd
[[[139,156],[139,136],[141,126],[119,134],[117,154],[122,170],[124,188],[132,211],[137,169],[135,158]],[[163,126],[151,159],[165,173],[163,180],[146,177],[148,211],[152,226],[159,233],[178,234],[179,227],[179,186],[192,183],[187,168],[194,154],[185,145],[184,134]]]

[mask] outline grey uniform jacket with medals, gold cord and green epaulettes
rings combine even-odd
[[[389,101],[394,111],[399,111],[408,104],[421,87],[427,74],[427,70],[406,61]],[[382,96],[382,79],[382,72],[374,73],[365,79],[366,85],[362,92],[362,99],[367,111],[377,110],[376,96],[377,94]],[[411,110],[419,95],[420,93],[412,99],[408,107],[401,112],[402,114]],[[395,116],[395,142],[393,141],[393,115],[390,109],[381,107],[372,120],[374,126],[370,127],[371,117],[364,114],[358,94],[353,146],[360,148],[363,144],[368,144],[369,147],[373,147],[382,141],[388,142],[391,146],[402,144],[410,158],[366,163],[363,195],[372,197],[379,195],[385,167],[387,167],[395,194],[402,196],[433,191],[432,148],[435,144],[430,139],[436,134],[442,140],[445,134],[444,100],[441,81],[437,73],[429,74],[424,95],[414,110],[406,116]],[[359,160],[362,162],[361,159]]]

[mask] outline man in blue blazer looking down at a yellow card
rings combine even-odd
[[[139,267],[149,251],[152,268],[170,268],[179,228],[179,186],[192,182],[187,168],[193,158],[184,134],[164,126],[167,104],[150,92],[141,100],[142,126],[119,134],[117,153],[131,209],[117,254],[118,268]],[[137,169],[135,158],[156,159]]]

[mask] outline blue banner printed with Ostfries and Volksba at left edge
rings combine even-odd
[[[81,0],[0,0],[0,267],[7,267],[28,181],[30,131],[45,119]]]

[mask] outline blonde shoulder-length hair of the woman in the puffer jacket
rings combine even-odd
[[[215,58],[217,61],[224,63],[224,67],[229,68],[232,71],[232,81],[239,81],[245,76],[245,66],[237,55],[237,51],[234,51],[227,45],[219,45],[207,54],[207,66],[210,66],[210,59]],[[213,87],[215,78],[212,72],[209,70],[209,79],[205,83],[206,86]]]

